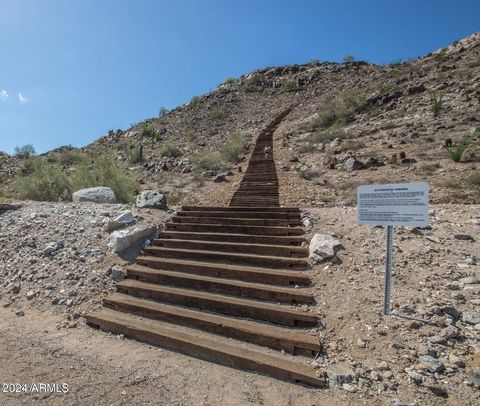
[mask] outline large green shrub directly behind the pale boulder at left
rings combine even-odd
[[[82,163],[70,176],[72,191],[106,186],[111,188],[120,202],[130,203],[134,200],[137,179],[127,173],[110,154],[96,154],[91,162]]]

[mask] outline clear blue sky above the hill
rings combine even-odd
[[[478,30],[475,0],[0,0],[0,150],[83,146],[260,67],[388,63]]]

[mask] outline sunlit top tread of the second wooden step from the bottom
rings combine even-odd
[[[320,342],[317,337],[304,332],[299,332],[297,329],[293,330],[288,327],[274,326],[254,320],[210,313],[167,303],[159,303],[152,300],[139,299],[122,293],[113,293],[112,295],[107,296],[104,300],[110,302],[123,302],[134,306],[148,308],[152,311],[167,312],[186,318],[194,318],[212,325],[226,326],[243,330],[251,334],[261,334],[275,339],[282,339],[290,341],[293,344],[301,344],[303,348],[309,348],[312,351],[320,351]]]

